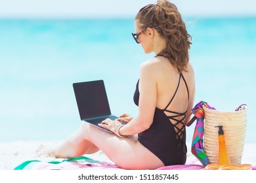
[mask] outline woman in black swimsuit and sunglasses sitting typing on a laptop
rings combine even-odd
[[[102,131],[88,123],[49,155],[70,158],[102,150],[123,169],[157,169],[186,162],[186,125],[194,103],[194,71],[188,63],[190,35],[177,7],[160,0],[135,18],[133,34],[146,54],[156,56],[140,65],[134,95],[138,115],[104,120]],[[125,125],[122,125],[123,122]],[[138,139],[127,138],[137,135]]]

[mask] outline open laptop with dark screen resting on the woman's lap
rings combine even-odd
[[[100,124],[106,118],[115,120],[117,116],[111,114],[108,97],[103,80],[77,82],[73,84],[75,99],[82,121],[104,129]],[[108,129],[104,129],[109,131]]]

